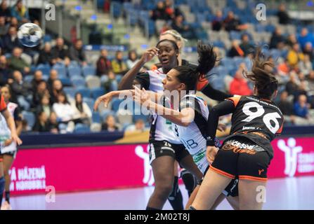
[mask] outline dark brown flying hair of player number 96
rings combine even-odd
[[[244,71],[244,77],[249,78],[255,83],[257,93],[260,97],[270,99],[273,93],[277,90],[278,80],[273,74],[273,62],[263,59],[261,48],[257,48],[251,72]]]

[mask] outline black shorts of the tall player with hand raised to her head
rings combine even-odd
[[[185,156],[190,155],[183,144],[171,144],[168,141],[150,142],[150,163],[156,158],[168,155],[180,162]]]

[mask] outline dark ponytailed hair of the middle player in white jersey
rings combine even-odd
[[[186,85],[187,91],[196,90],[198,80],[213,69],[217,61],[217,55],[214,52],[213,45],[197,42],[197,53],[199,55],[198,66],[192,69],[190,66],[175,66],[178,71],[178,80]]]

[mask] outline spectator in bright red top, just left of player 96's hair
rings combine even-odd
[[[238,95],[250,95],[252,90],[249,88],[247,80],[242,76],[242,71],[244,70],[244,63],[240,64],[240,68],[235,73],[233,81],[230,83],[230,94]]]

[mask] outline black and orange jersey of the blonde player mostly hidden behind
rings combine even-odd
[[[189,66],[192,69],[196,69],[197,68],[197,64],[193,64],[191,62],[188,62],[185,59],[182,59],[182,65],[183,66]],[[162,64],[154,64],[152,66],[152,70],[155,69],[159,69],[162,67]],[[224,99],[228,98],[228,97],[233,97],[233,95],[231,94],[226,94],[225,92],[221,92],[219,90],[214,89],[214,87],[212,87],[209,84],[209,80],[205,77],[200,78],[200,80],[197,83],[197,90],[201,91],[202,93],[204,93],[207,97],[217,100],[217,101],[223,101]]]

